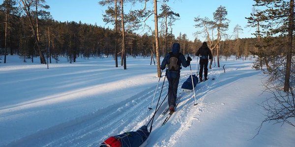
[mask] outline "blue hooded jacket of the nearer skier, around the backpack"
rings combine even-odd
[[[174,43],[172,46],[173,54],[179,53],[179,50],[180,50],[180,45],[178,43]],[[166,68],[166,65],[169,63],[169,59],[170,59],[170,54],[168,53],[166,54],[166,56],[164,57],[162,61],[161,70],[164,70]],[[190,64],[190,62],[185,59],[182,53],[180,53],[178,60],[179,60],[179,64],[182,64],[183,67],[188,67]]]

